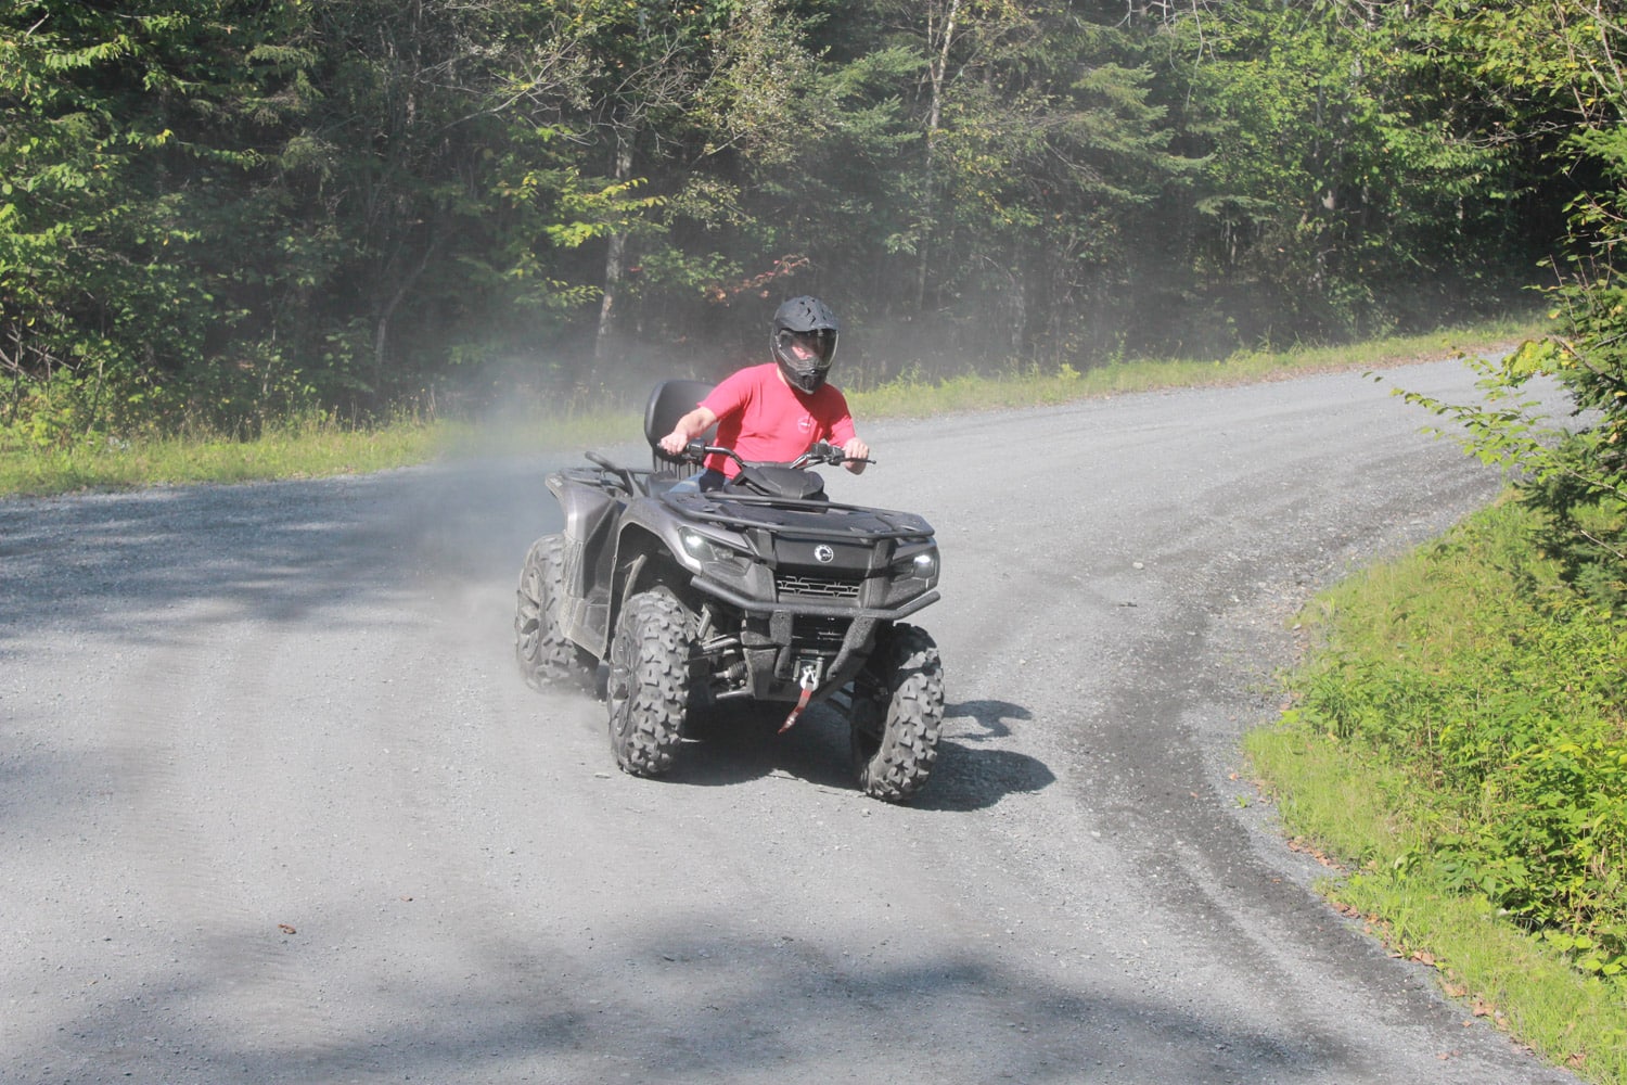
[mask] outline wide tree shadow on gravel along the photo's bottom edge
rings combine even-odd
[[[449,924],[459,932],[438,948],[464,961],[457,974],[381,970],[303,930],[238,929],[184,974],[130,968],[93,1009],[39,1007],[11,1065],[18,1080],[812,1082],[859,1065],[866,1080],[1300,1082],[1354,1080],[1339,1070],[1359,1062],[1329,1036],[1227,1022],[1202,1000],[1126,997],[955,950],[900,955],[857,932],[838,947],[791,919],[765,934],[732,914],[661,908],[604,917],[595,934],[613,953],[558,930],[521,942]],[[325,914],[347,935],[379,926],[371,909]],[[244,986],[294,1007],[296,978],[335,955],[324,970],[368,978],[350,996],[355,1023],[316,1012],[304,1028],[273,1018],[238,1035],[216,1018],[223,999],[241,1010]]]

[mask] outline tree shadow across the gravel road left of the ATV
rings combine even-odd
[[[172,638],[192,604],[299,621],[426,579],[513,584],[558,519],[540,478],[464,465],[0,501],[0,649],[46,628]]]

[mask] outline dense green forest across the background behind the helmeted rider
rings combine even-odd
[[[13,0],[0,439],[602,400],[797,293],[859,387],[1500,314],[1619,161],[1611,15]]]

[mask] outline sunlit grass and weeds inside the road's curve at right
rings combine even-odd
[[[1554,1064],[1627,1082],[1627,621],[1511,501],[1329,589],[1292,708],[1245,737],[1319,885]]]

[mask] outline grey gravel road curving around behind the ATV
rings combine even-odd
[[[833,496],[944,553],[908,807],[825,709],[639,781],[524,685],[574,454],[3,501],[0,1078],[1575,1080],[1323,904],[1237,776],[1298,604],[1497,491],[1429,421],[1350,373],[861,426]]]

